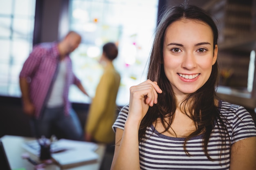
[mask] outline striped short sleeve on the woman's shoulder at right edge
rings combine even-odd
[[[256,136],[252,115],[243,106],[240,106],[234,113],[232,129],[232,144],[241,139]]]

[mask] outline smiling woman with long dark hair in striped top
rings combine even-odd
[[[218,30],[208,13],[181,4],[157,26],[148,80],[112,126],[111,170],[255,170],[256,127],[243,106],[216,96]]]

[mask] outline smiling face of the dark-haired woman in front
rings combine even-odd
[[[197,20],[182,19],[166,29],[163,47],[164,72],[177,95],[202,87],[211,75],[218,47],[213,51],[211,27]]]

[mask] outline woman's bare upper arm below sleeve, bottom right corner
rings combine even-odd
[[[256,137],[242,139],[231,146],[229,170],[256,170]]]

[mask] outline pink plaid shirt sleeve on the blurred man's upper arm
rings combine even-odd
[[[40,47],[40,45],[35,46],[29,57],[24,62],[22,70],[20,71],[19,77],[31,77],[36,72],[43,55],[47,52],[46,49]]]

